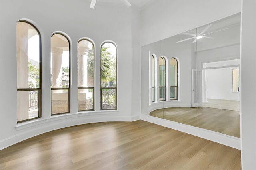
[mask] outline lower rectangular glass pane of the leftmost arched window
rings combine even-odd
[[[39,91],[17,92],[17,121],[39,117]]]

